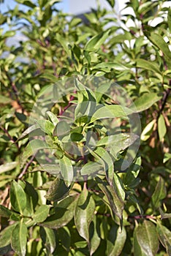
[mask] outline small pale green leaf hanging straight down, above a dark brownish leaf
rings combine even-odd
[[[71,160],[64,156],[61,159],[59,159],[59,165],[61,167],[61,175],[64,178],[64,182],[67,187],[69,187],[73,181],[73,167]]]

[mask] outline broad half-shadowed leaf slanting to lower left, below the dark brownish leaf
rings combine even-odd
[[[39,224],[43,227],[58,229],[66,226],[74,217],[77,196],[69,196],[61,200],[56,206],[56,213],[47,217],[45,222]]]

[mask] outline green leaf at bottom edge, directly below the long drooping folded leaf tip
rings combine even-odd
[[[107,237],[107,256],[121,255],[123,246],[126,241],[126,230],[123,227],[113,225],[110,228],[109,236]]]

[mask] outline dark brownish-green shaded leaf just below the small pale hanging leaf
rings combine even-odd
[[[50,201],[59,201],[68,195],[70,189],[71,187],[67,187],[63,179],[56,178],[45,197]]]

